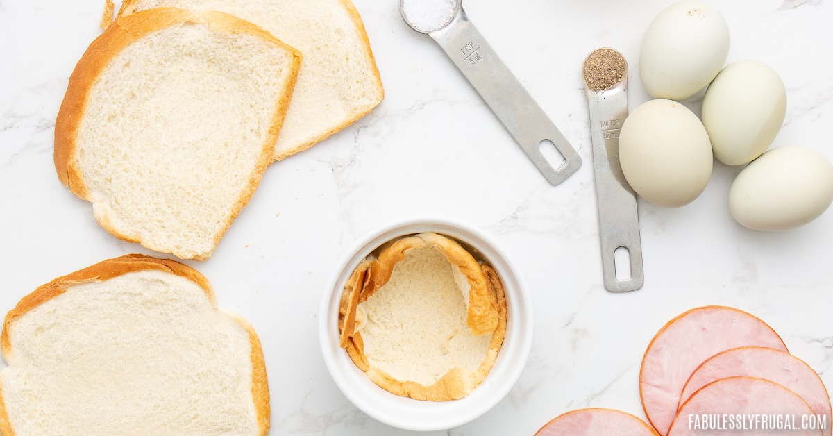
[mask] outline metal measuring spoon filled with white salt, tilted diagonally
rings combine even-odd
[[[547,181],[557,185],[576,173],[581,157],[471,24],[461,0],[400,0],[399,12],[408,26],[440,44]],[[546,140],[565,159],[558,168],[541,154]]]

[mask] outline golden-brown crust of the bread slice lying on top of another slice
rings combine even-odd
[[[124,5],[122,5],[122,8],[124,8]],[[292,54],[293,58],[292,65],[290,65],[290,83],[276,102],[277,110],[273,115],[267,140],[262,145],[261,156],[257,160],[257,164],[254,171],[252,171],[246,188],[242,189],[237,203],[232,207],[225,227],[214,238],[212,251],[208,253],[175,253],[177,250],[152,245],[151,243],[142,241],[142,238],[138,235],[127,234],[122,229],[117,229],[112,225],[110,218],[103,211],[103,208],[95,207],[95,199],[92,198],[92,193],[87,187],[87,184],[84,183],[75,156],[77,152],[78,128],[87,107],[87,98],[98,76],[107,68],[112,58],[116,57],[118,53],[121,53],[129,44],[146,36],[148,33],[179,23],[202,23],[213,30],[223,33],[246,33],[255,35],[279,47],[285,48],[287,52]],[[67,93],[64,95],[55,121],[54,160],[57,177],[72,193],[76,194],[79,198],[93,203],[93,212],[98,223],[116,238],[131,243],[141,243],[147,248],[162,253],[172,253],[178,258],[205,260],[211,256],[213,249],[217,247],[217,243],[220,242],[220,239],[222,239],[223,235],[232,225],[234,219],[237,218],[242,208],[252,198],[257,185],[260,184],[263,173],[266,171],[268,164],[272,162],[277,134],[281,130],[283,118],[287,115],[289,101],[292,98],[292,89],[295,88],[298,72],[300,71],[301,59],[302,55],[300,52],[282,43],[273,37],[271,33],[227,13],[214,11],[194,13],[177,8],[156,8],[119,17],[107,27],[104,33],[92,41],[69,78]]]

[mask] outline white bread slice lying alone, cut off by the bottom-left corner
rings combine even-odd
[[[3,323],[3,436],[264,436],[261,343],[202,274],[133,254],[56,278]]]

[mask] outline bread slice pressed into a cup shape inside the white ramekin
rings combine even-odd
[[[342,296],[342,347],[373,383],[430,401],[463,398],[506,333],[501,281],[450,238],[402,238],[359,265]]]

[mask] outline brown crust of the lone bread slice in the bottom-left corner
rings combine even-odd
[[[46,303],[52,298],[67,292],[67,288],[82,283],[104,282],[111,278],[116,278],[127,273],[137,273],[140,271],[162,271],[164,273],[172,273],[182,278],[187,278],[193,283],[202,288],[206,293],[208,301],[211,302],[212,308],[217,309],[217,297],[214,295],[211,283],[196,269],[191,268],[182,263],[170,259],[152,258],[143,254],[127,254],[119,258],[112,258],[96,263],[87,268],[70,273],[65,276],[55,278],[49,283],[46,283],[34,292],[28,294],[17,303],[17,306],[6,314],[3,320],[2,333],[0,333],[0,348],[2,348],[3,357],[6,359],[9,366],[13,364],[16,359],[12,350],[12,344],[9,339],[9,326],[23,314],[29,312],[33,308],[37,308],[42,303]],[[261,347],[260,338],[257,337],[252,325],[245,319],[237,315],[228,315],[242,328],[245,328],[249,335],[249,343],[251,343],[250,361],[252,362],[252,401],[254,402],[255,411],[257,413],[257,426],[259,428],[259,435],[266,436],[269,433],[269,420],[271,415],[271,408],[269,405],[269,388],[266,375],[266,363],[263,359],[263,349]],[[2,394],[2,378],[0,378],[0,434],[3,436],[14,436],[14,429],[9,423],[6,405]]]

